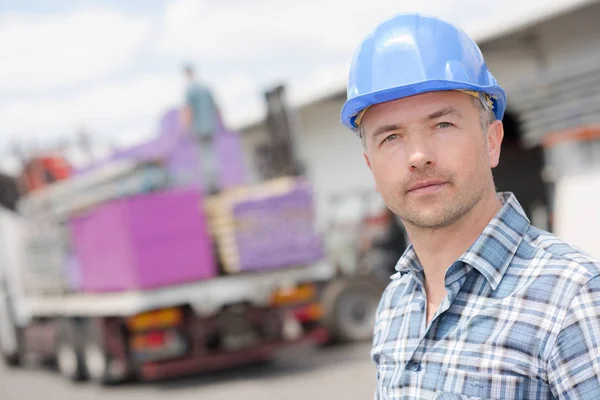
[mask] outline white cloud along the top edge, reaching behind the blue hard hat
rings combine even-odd
[[[489,8],[477,1],[421,0],[256,0],[253,2],[176,0],[167,6],[158,48],[170,55],[252,62],[264,54],[294,58],[298,45],[316,52],[332,48],[346,55],[376,23],[403,11],[450,20]]]

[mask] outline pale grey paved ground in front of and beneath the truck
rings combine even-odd
[[[369,349],[306,347],[250,367],[109,389],[71,385],[45,369],[0,366],[0,400],[365,400],[373,398],[375,379]]]

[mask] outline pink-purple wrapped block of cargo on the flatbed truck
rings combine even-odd
[[[123,198],[70,221],[84,292],[212,278],[217,266],[196,190]]]

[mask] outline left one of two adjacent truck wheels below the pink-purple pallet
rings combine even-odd
[[[56,345],[56,366],[71,382],[85,380],[81,354],[81,330],[74,321],[61,321]]]

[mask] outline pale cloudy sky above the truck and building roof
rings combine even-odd
[[[0,169],[11,144],[98,146],[156,135],[180,106],[182,65],[215,93],[225,122],[260,119],[263,91],[294,104],[343,89],[352,53],[378,22],[436,15],[475,35],[498,21],[577,0],[0,0]]]

